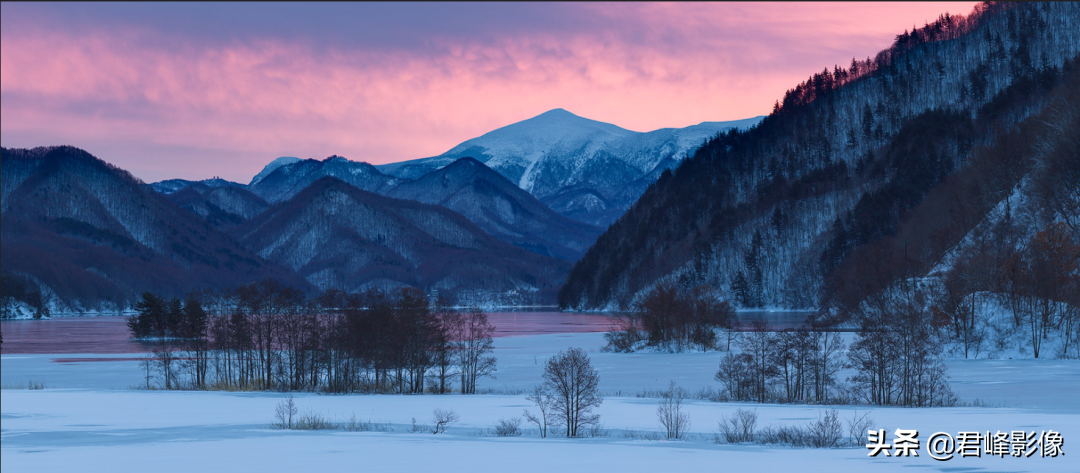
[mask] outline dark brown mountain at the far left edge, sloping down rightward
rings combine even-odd
[[[0,175],[3,272],[36,281],[62,311],[265,278],[308,287],[80,149],[3,149]]]

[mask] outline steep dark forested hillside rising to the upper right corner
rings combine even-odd
[[[741,307],[851,307],[947,262],[1002,208],[1028,216],[1021,241],[1075,232],[1078,52],[1080,4],[984,3],[825,68],[664,173],[559,303],[625,307],[673,282]]]

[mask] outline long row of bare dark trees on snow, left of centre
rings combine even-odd
[[[184,302],[146,294],[130,327],[153,350],[147,383],[152,370],[166,389],[475,393],[496,369],[484,312],[411,289],[309,299],[267,280]]]

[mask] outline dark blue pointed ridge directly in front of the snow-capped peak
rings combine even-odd
[[[388,195],[442,205],[492,236],[530,252],[577,260],[596,241],[600,229],[570,220],[540,203],[490,167],[463,158],[402,183]]]

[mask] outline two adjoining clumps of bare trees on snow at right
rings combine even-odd
[[[737,401],[951,405],[956,396],[926,299],[924,292],[891,292],[867,302],[850,347],[836,332],[774,333],[755,322],[741,351],[720,361],[715,379]],[[837,376],[843,368],[855,371],[846,383]]]

